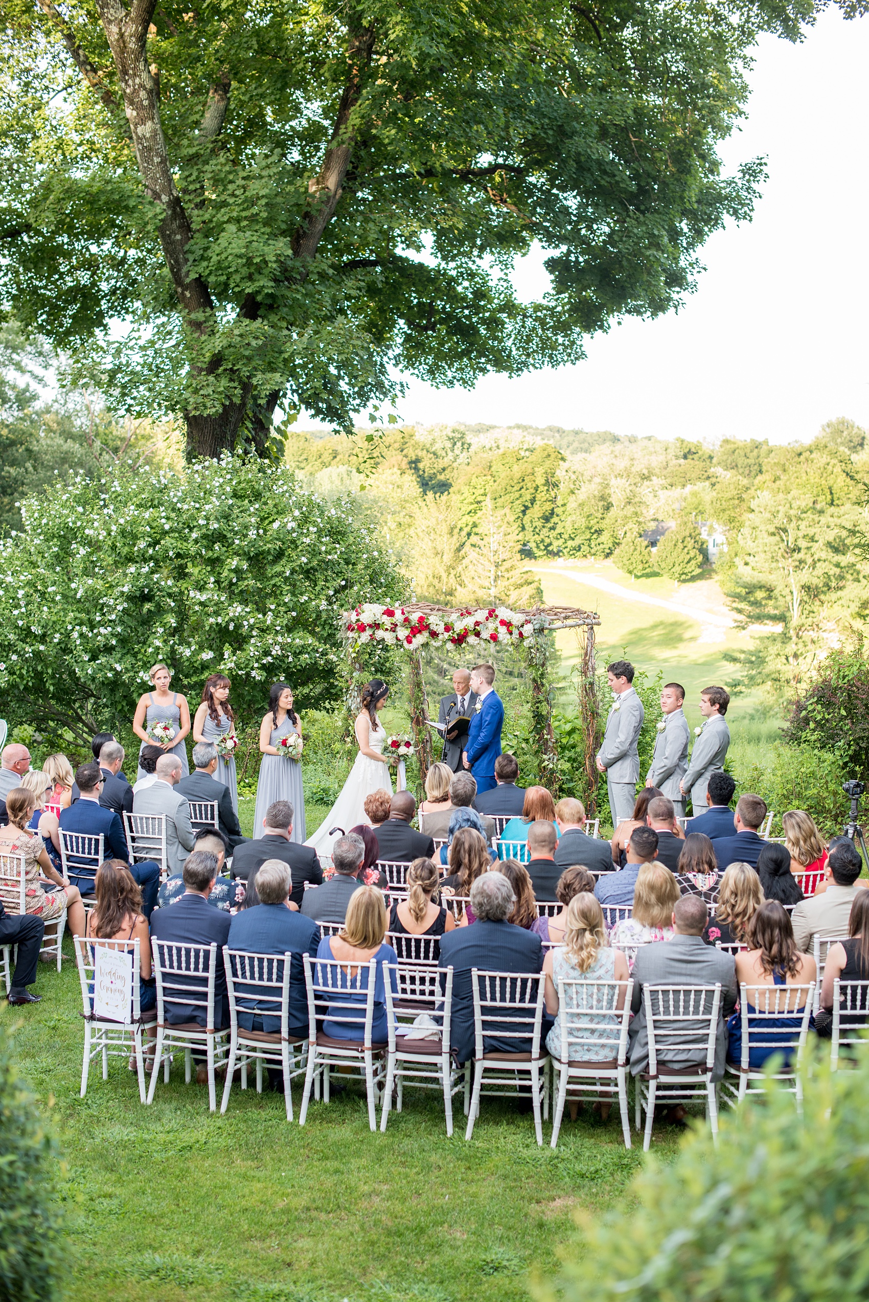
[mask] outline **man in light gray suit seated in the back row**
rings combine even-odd
[[[727,1053],[726,1019],[736,1008],[739,987],[732,954],[704,944],[704,930],[709,921],[706,901],[700,896],[681,896],[672,910],[675,936],[666,945],[644,945],[633,965],[633,995],[631,1008],[631,1074],[649,1070],[649,1031],[646,1027],[646,986],[714,986],[720,982],[722,997],[715,1035],[713,1081],[724,1075]],[[658,1062],[668,1068],[701,1068],[706,1062],[706,1049],[668,1049]],[[671,1109],[675,1121],[684,1120],[685,1109]]]

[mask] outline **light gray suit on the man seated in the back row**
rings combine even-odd
[[[722,999],[718,1014],[718,1035],[715,1038],[715,1068],[713,1079],[724,1075],[727,1057],[726,1019],[736,1008],[739,991],[736,988],[736,965],[732,954],[724,954],[714,945],[705,944],[702,936],[674,936],[654,945],[641,945],[633,965],[633,996],[631,1008],[634,1018],[631,1022],[631,1072],[640,1075],[649,1068],[649,1031],[642,993],[644,986],[714,986],[722,984]],[[664,1023],[666,1025],[666,1023]],[[700,1053],[671,1052],[668,1066],[693,1066],[706,1061],[706,1051]]]

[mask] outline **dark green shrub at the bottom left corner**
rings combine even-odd
[[[47,1302],[60,1269],[55,1147],[0,1023],[0,1298]]]

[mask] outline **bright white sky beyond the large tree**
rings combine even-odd
[[[704,249],[685,307],[614,326],[577,366],[490,375],[473,391],[410,379],[401,421],[775,443],[838,415],[869,424],[868,66],[869,18],[830,10],[803,44],[763,38],[748,118],[723,158],[732,171],[766,155],[769,181],[754,220]],[[524,298],[543,292],[539,256],[516,284]]]

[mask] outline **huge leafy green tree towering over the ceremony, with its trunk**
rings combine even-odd
[[[812,0],[9,0],[4,302],[193,454],[278,405],[350,428],[667,311],[750,216],[722,174],[761,31]],[[677,72],[676,72],[677,70]],[[537,241],[551,290],[516,296]],[[121,337],[116,328],[124,323]]]

